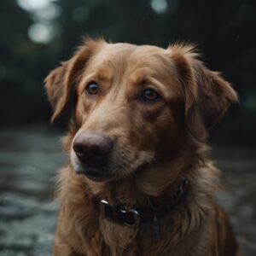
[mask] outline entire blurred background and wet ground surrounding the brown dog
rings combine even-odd
[[[211,131],[212,158],[224,171],[220,201],[241,246],[256,255],[255,0],[0,1],[0,256],[50,255],[55,169],[66,156],[49,128],[44,78],[70,58],[83,36],[107,41],[195,43],[207,67],[240,96]]]

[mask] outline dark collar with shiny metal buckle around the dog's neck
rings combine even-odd
[[[99,197],[93,198],[93,204],[102,218],[107,218],[109,221],[135,228],[139,227],[142,223],[152,222],[154,227],[159,229],[158,218],[173,211],[183,201],[188,190],[189,182],[187,179],[184,179],[172,196],[172,201],[167,201],[165,205],[129,209],[118,205],[112,206],[107,200]]]

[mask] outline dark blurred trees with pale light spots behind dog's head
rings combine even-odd
[[[255,145],[255,10],[254,0],[1,0],[0,125],[48,124],[44,78],[82,36],[164,48],[182,41],[197,44],[240,96],[214,141]]]

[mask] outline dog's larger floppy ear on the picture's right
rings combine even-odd
[[[193,47],[174,45],[170,50],[183,84],[187,125],[195,137],[205,140],[207,129],[218,123],[238,97],[219,73],[198,60]]]

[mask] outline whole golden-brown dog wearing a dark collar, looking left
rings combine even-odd
[[[204,155],[237,96],[193,47],[86,40],[46,89],[52,120],[74,110],[55,256],[241,255]]]

